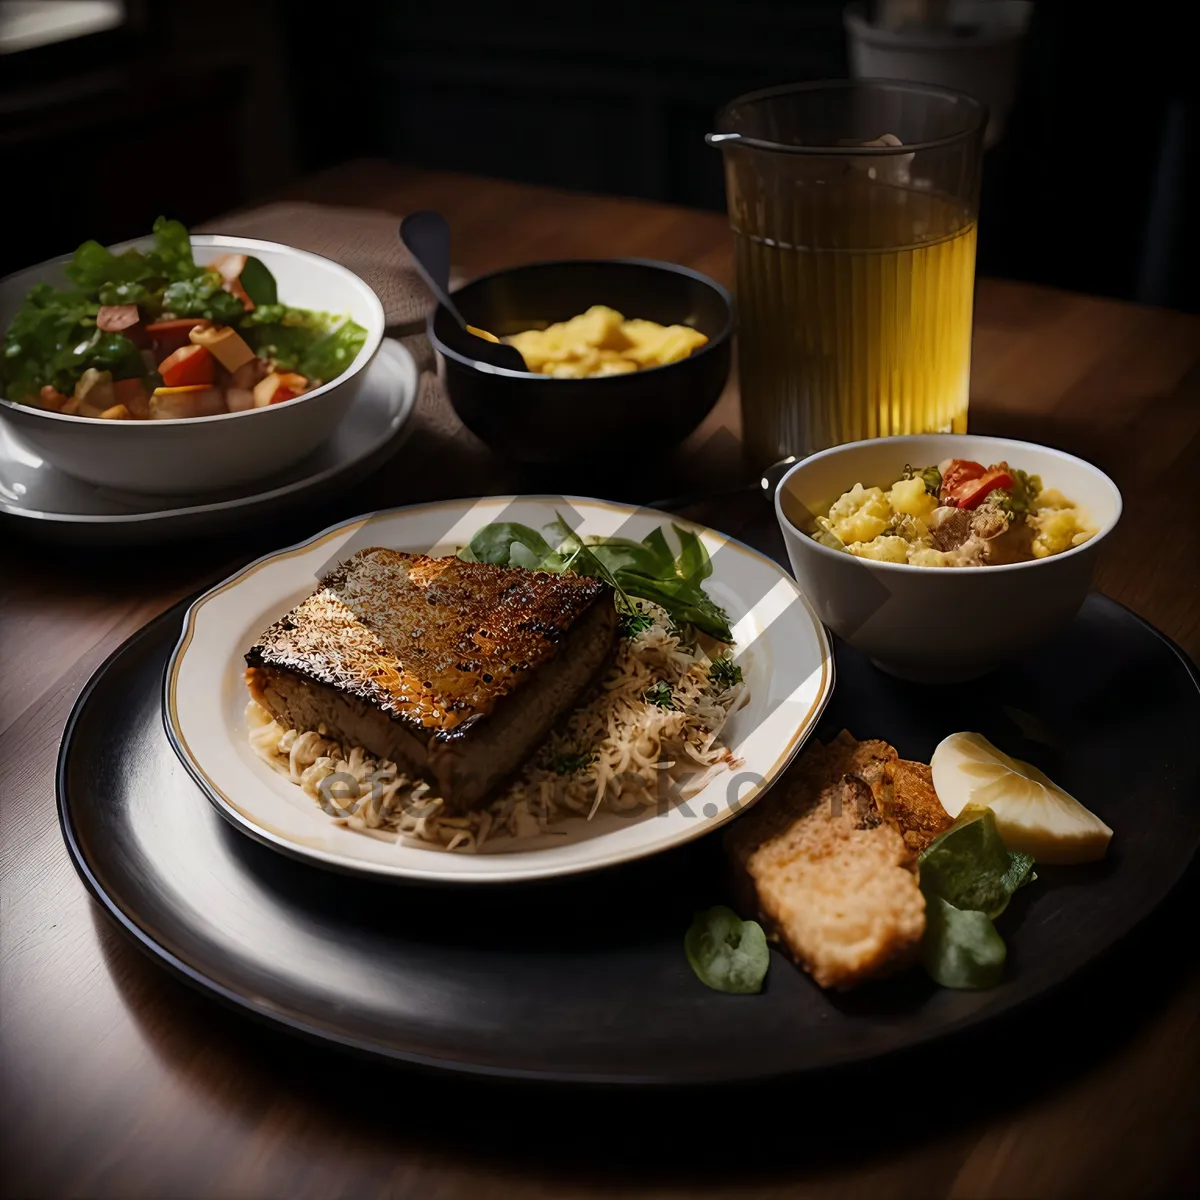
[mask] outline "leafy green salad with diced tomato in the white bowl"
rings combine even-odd
[[[4,336],[6,400],[119,420],[246,412],[336,379],[367,337],[283,302],[253,256],[197,263],[187,229],[164,217],[152,246],[84,242],[65,272],[71,289],[35,286]]]

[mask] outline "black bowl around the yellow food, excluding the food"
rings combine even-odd
[[[520,462],[662,450],[708,415],[730,374],[733,301],[686,266],[644,258],[574,259],[514,266],[468,283],[455,304],[470,325],[504,336],[569,320],[592,305],[660,325],[691,325],[708,344],[678,362],[594,379],[504,371],[469,356],[469,336],[440,305],[430,341],[463,425]]]

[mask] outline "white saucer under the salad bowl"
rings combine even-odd
[[[43,462],[0,416],[0,523],[46,541],[136,546],[212,535],[356,482],[394,454],[409,432],[418,371],[398,342],[384,338],[364,385],[316,454],[269,486],[192,498],[134,496],[72,479]]]

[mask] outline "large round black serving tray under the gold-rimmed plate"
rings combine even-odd
[[[685,1085],[863,1062],[977,1027],[1067,980],[1171,890],[1200,842],[1195,668],[1091,596],[1037,655],[949,694],[838,646],[817,736],[842,727],[929,761],[976,728],[1048,770],[1116,830],[1104,863],[1039,868],[1001,918],[991,991],[919,972],[846,995],[778,953],[760,996],[691,973],[683,934],[720,902],[720,835],[574,881],[397,887],[323,871],[239,834],[162,730],[178,606],[96,672],[59,757],[62,834],[96,900],[179,976],[294,1032],[427,1067],[511,1078]]]

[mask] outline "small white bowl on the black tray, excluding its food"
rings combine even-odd
[[[802,528],[854,484],[886,487],[906,463],[949,457],[1006,460],[1040,475],[1086,512],[1096,535],[1028,563],[931,568],[854,558]],[[1104,472],[1061,450],[931,433],[852,442],[798,462],[779,485],[775,514],[792,572],[826,625],[892,674],[948,683],[990,671],[1070,620],[1087,594],[1100,544],[1121,516],[1121,493]]]

